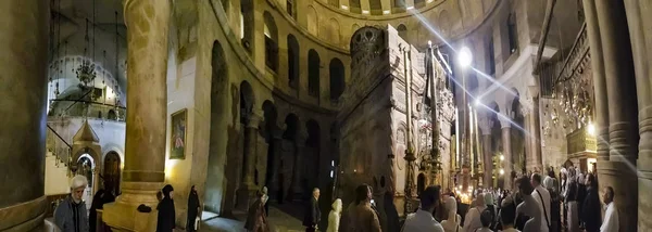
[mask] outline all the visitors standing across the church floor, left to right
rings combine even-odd
[[[580,172],[574,167],[562,168],[560,177],[552,168],[542,176],[538,172],[512,175],[514,190],[481,189],[473,192],[471,205],[463,204],[460,194],[453,191],[441,192],[440,186],[428,186],[419,194],[419,206],[405,217],[403,225],[385,221],[386,230],[402,232],[488,232],[488,231],[538,231],[538,232],[611,232],[618,231],[618,210],[613,204],[614,189],[604,186],[600,203],[598,179],[593,173]],[[93,197],[90,214],[87,216],[83,202],[88,180],[76,176],[71,182],[71,194],[54,211],[54,223],[64,232],[96,231],[97,209],[115,201],[112,192],[100,190]],[[174,189],[165,185],[159,193],[156,231],[175,228]],[[268,195],[264,188],[256,193],[250,205],[244,229],[253,232],[271,231],[267,221]],[[314,189],[308,202],[303,218],[306,232],[319,231],[322,214],[319,189]],[[391,197],[390,204],[393,206]],[[327,232],[380,232],[378,208],[374,204],[371,185],[361,184],[355,189],[355,201],[343,208],[342,201],[333,202],[328,214]],[[147,211],[146,206],[138,210]],[[201,205],[195,186],[188,197],[187,231],[197,229],[197,217]],[[396,208],[394,208],[396,214]],[[398,216],[398,214],[396,214]],[[90,217],[89,217],[90,216]],[[398,217],[396,217],[398,218]],[[89,220],[90,219],[90,220]],[[90,223],[89,223],[90,222]]]

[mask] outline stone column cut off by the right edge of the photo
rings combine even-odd
[[[639,157],[638,157],[638,231],[652,230],[652,2],[625,0],[631,51],[636,72],[636,88],[639,108]]]

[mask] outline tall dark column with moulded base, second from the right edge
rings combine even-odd
[[[637,123],[635,73],[628,24],[623,1],[597,0],[595,13],[600,27],[604,60],[604,78],[609,104],[610,160],[598,163],[603,178],[600,184],[616,190],[614,202],[620,209],[638,208]],[[637,230],[637,210],[620,217],[622,231]]]

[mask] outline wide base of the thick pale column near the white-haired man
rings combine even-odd
[[[156,193],[161,185],[159,182],[123,182],[123,194],[115,203],[104,205],[102,220],[113,231],[155,231],[159,204]],[[152,210],[139,212],[137,208],[141,204]]]

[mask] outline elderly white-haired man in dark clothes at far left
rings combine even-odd
[[[88,215],[86,204],[82,199],[88,180],[84,176],[75,176],[71,181],[71,195],[65,197],[54,211],[54,224],[62,232],[87,232]]]

